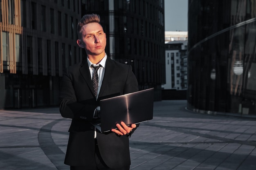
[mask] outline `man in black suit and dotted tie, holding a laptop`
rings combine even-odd
[[[99,15],[88,14],[77,24],[77,44],[85,49],[87,59],[68,67],[63,74],[60,112],[72,118],[65,164],[70,165],[70,170],[129,170],[128,137],[136,125],[121,122],[117,129],[100,133],[90,123],[97,118],[101,99],[138,91],[131,66],[106,55],[106,33],[99,22]]]

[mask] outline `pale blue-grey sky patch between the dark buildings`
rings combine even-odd
[[[188,31],[188,0],[164,0],[165,31]]]

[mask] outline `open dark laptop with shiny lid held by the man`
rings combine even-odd
[[[99,132],[116,129],[116,124],[139,124],[153,119],[154,88],[111,97],[100,101],[98,122],[92,123]]]

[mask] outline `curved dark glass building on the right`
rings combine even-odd
[[[188,109],[256,115],[255,4],[189,0]]]

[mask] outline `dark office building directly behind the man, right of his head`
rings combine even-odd
[[[165,83],[164,0],[83,0],[82,14],[97,13],[107,35],[106,53],[132,65],[139,89]]]

